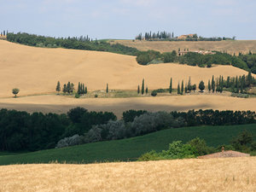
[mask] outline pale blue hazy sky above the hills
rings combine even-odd
[[[0,31],[134,38],[139,32],[256,39],[256,0],[0,0]]]

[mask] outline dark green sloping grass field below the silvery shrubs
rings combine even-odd
[[[204,138],[208,146],[229,144],[232,137],[248,130],[256,136],[256,125],[196,126],[157,131],[141,137],[117,141],[89,143],[68,148],[55,148],[26,154],[0,154],[0,165],[49,163],[93,163],[105,161],[137,160],[141,154],[150,150],[161,151],[168,144],[181,140],[183,143],[195,137]],[[255,139],[255,138],[254,138]]]

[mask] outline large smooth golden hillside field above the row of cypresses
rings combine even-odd
[[[107,52],[73,49],[34,48],[0,41],[0,97],[12,96],[11,90],[19,88],[19,96],[55,91],[57,81],[61,87],[68,81],[78,86],[83,82],[89,90],[105,90],[106,84],[113,90],[137,90],[145,84],[148,89],[167,88],[172,77],[173,87],[182,80],[193,84],[212,75],[234,77],[247,72],[231,66],[212,68],[190,67],[173,63],[141,66],[135,56]],[[256,77],[256,75],[254,76]]]

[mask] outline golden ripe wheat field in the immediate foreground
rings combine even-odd
[[[254,192],[256,157],[0,166],[0,191]]]

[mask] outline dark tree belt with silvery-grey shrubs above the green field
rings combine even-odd
[[[0,150],[36,151],[79,143],[136,137],[153,131],[194,125],[256,123],[254,112],[199,110],[157,112],[129,110],[117,120],[113,113],[73,108],[66,114],[0,110]]]

